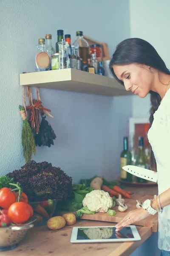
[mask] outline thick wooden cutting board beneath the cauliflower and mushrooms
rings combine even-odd
[[[142,201],[142,203],[146,199],[153,199],[153,195],[132,195],[131,199],[125,198],[125,204],[127,205],[127,210],[125,212],[119,212],[118,206],[114,207],[114,210],[116,211],[116,215],[109,216],[107,213],[95,213],[93,214],[83,214],[80,219],[83,220],[93,220],[93,221],[108,221],[108,222],[116,222],[122,220],[122,218],[125,217],[125,215],[128,214],[128,212],[136,209],[136,199]],[[65,211],[58,212],[57,215],[62,215],[66,213]],[[158,231],[158,213],[155,215],[150,215],[148,218],[142,220],[142,221],[136,221],[133,223],[134,225],[144,226],[144,227],[152,227],[152,232]]]

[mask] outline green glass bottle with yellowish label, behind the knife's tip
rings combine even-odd
[[[123,138],[123,151],[120,154],[120,178],[121,180],[132,182],[132,177],[130,173],[126,172],[124,169],[122,169],[123,166],[131,165],[131,153],[128,149],[128,138]]]

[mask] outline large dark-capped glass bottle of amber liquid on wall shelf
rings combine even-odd
[[[82,65],[86,64],[86,66],[87,66],[89,44],[85,40],[85,38],[83,38],[83,32],[82,31],[77,31],[76,35],[77,35],[77,38],[74,41],[74,46],[79,47],[79,56],[80,56],[80,58],[82,58]]]

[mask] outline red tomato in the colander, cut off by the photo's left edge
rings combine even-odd
[[[11,189],[0,189],[0,207],[8,209],[14,202],[16,202],[16,196],[11,192]]]

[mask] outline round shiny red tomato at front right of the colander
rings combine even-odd
[[[30,218],[30,210],[25,202],[15,202],[8,209],[8,218],[14,223],[23,223]]]

